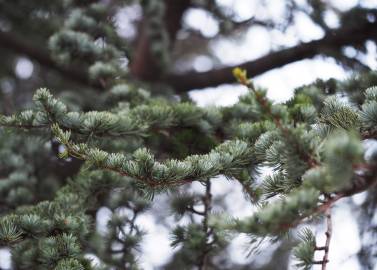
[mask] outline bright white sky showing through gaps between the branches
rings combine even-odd
[[[218,0],[217,2],[231,8],[237,13],[240,20],[249,18],[255,15],[254,1],[252,0]],[[271,9],[259,10],[258,16],[273,16],[279,18],[281,12],[281,0],[270,0]],[[355,5],[356,0],[331,0],[340,9],[348,9]],[[377,0],[364,1],[365,5],[377,5]],[[265,13],[265,14],[264,14]],[[119,16],[120,25],[123,28],[119,29],[122,33],[132,34],[132,29],[127,28],[127,21],[134,20],[135,17],[125,18]],[[328,15],[327,20],[331,24],[336,25],[337,20],[332,14]],[[185,22],[193,28],[200,30],[206,36],[215,35],[218,31],[216,22],[205,12],[193,9],[185,15]],[[268,53],[271,49],[271,40],[277,41],[279,44],[291,46],[296,44],[299,40],[307,42],[313,39],[321,38],[322,31],[313,25],[304,16],[296,18],[296,27],[290,29],[286,34],[267,33],[261,28],[255,28],[248,31],[240,40],[221,41],[212,44],[212,50],[221,58],[223,65],[234,65],[243,61],[249,61]],[[273,47],[272,47],[273,48]],[[352,54],[352,51],[349,52]],[[373,69],[377,68],[376,47],[369,43],[368,53],[363,56],[365,62]],[[212,63],[208,61],[205,56],[198,57],[192,63],[192,67],[197,71],[206,71],[212,68]],[[33,65],[27,58],[21,58],[16,65],[16,72],[20,77],[28,78],[33,71]],[[282,68],[277,68],[266,72],[260,76],[253,78],[256,85],[268,89],[267,95],[275,102],[283,102],[289,99],[295,87],[303,84],[313,82],[317,78],[328,79],[346,79],[351,74],[345,72],[339,67],[334,60],[323,57],[316,57],[310,60],[302,60]],[[190,96],[197,102],[199,106],[229,106],[237,102],[238,97],[246,93],[243,86],[237,85],[222,85],[219,87],[212,87],[201,90],[193,90]],[[228,202],[230,212],[239,218],[249,216],[253,213],[253,209],[244,200],[241,187],[234,184],[234,182],[225,180],[223,177],[218,177],[212,181],[215,196],[225,196],[225,201]],[[193,190],[201,190],[200,185],[193,184]],[[157,198],[157,200],[163,198]],[[365,199],[365,194],[355,195],[353,198],[343,199],[334,207],[333,226],[334,235],[331,242],[330,262],[328,270],[361,270],[355,254],[360,248],[360,239],[357,232],[357,224],[352,218],[352,209],[347,200],[352,200],[356,205],[359,205]],[[158,205],[158,203],[154,203]],[[174,224],[174,219],[170,212],[166,209],[158,209],[154,206],[151,211],[143,214],[137,219],[137,223],[141,228],[149,233],[142,243],[142,252],[139,257],[142,269],[153,270],[158,269],[170,258],[172,248],[169,241],[169,230],[158,224],[154,211],[160,211],[166,215],[167,223]],[[99,231],[106,230],[106,223],[109,219],[110,211],[106,208],[100,209],[97,215]],[[185,222],[185,221],[183,221]],[[314,227],[313,227],[314,228]],[[315,227],[317,233],[317,240],[324,242],[324,229],[319,226]],[[247,262],[250,258],[246,257],[247,237],[240,235],[234,239],[230,245],[232,260],[238,263]],[[267,256],[268,254],[266,254]],[[88,255],[96,262],[94,256]],[[10,255],[8,250],[0,249],[0,268],[10,268]],[[293,266],[292,266],[292,269]],[[314,267],[320,269],[320,267]],[[377,270],[377,267],[375,268]]]

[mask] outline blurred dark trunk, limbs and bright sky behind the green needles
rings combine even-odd
[[[68,27],[70,14],[64,2],[0,0],[2,113],[29,107],[39,87],[51,89],[72,108],[100,108],[95,97],[100,99],[108,84],[98,84],[84,72],[92,64],[90,59],[84,58],[79,64],[62,63],[56,60],[49,42],[54,32]],[[82,7],[96,1],[78,2]],[[247,91],[234,84],[231,70],[238,65],[246,68],[255,84],[266,88],[268,97],[276,102],[288,100],[296,87],[317,79],[345,80],[377,68],[377,0],[166,0],[163,15],[159,1],[97,2],[108,7],[114,40],[120,40],[118,47],[123,51],[117,65],[126,80],[140,83],[152,93],[186,96],[199,106],[237,102]],[[146,27],[152,29],[148,35]],[[69,170],[56,171],[54,166],[41,175],[50,181],[45,190],[56,190],[70,177]],[[187,189],[200,191],[202,187],[193,184]],[[216,200],[221,201],[215,212],[229,211],[244,217],[254,211],[235,183],[219,177],[213,181],[213,189]],[[373,207],[365,205],[371,196],[362,193],[337,204],[328,269],[377,270],[376,241],[369,239],[374,234],[364,231],[370,224],[374,228],[377,220],[374,211],[358,210]],[[138,256],[146,270],[170,269],[167,264],[175,249],[170,246],[169,228],[177,221],[171,215],[168,197],[157,196],[153,207],[137,219],[148,232]],[[48,198],[45,194],[34,200]],[[107,207],[99,209],[100,232],[106,231],[110,217]],[[318,241],[324,241],[323,232],[319,224]],[[284,243],[262,247],[260,253],[251,256],[248,245],[249,239],[239,236],[228,247],[228,260],[237,269],[294,269],[281,250]],[[365,253],[365,247],[370,254]],[[0,249],[0,268],[11,268],[10,253],[5,248]]]

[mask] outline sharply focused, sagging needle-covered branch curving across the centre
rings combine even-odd
[[[109,154],[91,149],[85,144],[74,144],[70,141],[70,133],[64,132],[56,124],[52,126],[52,131],[66,147],[63,156],[71,155],[89,161],[98,168],[138,179],[153,188],[182,185],[221,173],[231,175],[229,170],[237,170],[252,158],[247,143],[234,140],[219,145],[209,154],[188,156],[182,161],[168,160],[160,163],[146,149],[136,151],[134,158],[129,159],[122,154]]]

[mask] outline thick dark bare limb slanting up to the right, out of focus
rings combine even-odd
[[[368,39],[377,39],[377,22],[361,23],[354,28],[340,28],[327,33],[323,38],[297,46],[272,52],[256,60],[235,66],[214,69],[207,72],[188,72],[184,74],[170,74],[164,78],[166,84],[172,86],[178,93],[192,89],[217,86],[235,82],[232,70],[235,67],[246,69],[249,76],[260,75],[274,68],[286,64],[311,58],[316,55],[331,55],[347,45],[360,45]]]

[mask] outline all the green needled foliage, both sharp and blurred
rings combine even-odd
[[[168,198],[177,222],[170,228],[175,253],[166,269],[231,269],[222,267],[230,263],[221,257],[240,234],[250,238],[251,250],[293,236],[298,241],[290,256],[297,268],[326,267],[331,207],[377,182],[376,153],[366,155],[365,147],[377,139],[376,72],[318,80],[277,104],[236,68],[234,82],[248,92],[232,106],[203,108],[159,89],[164,85],[131,79],[120,59],[133,52],[106,3],[57,2],[44,7],[64,11],[46,33],[51,61],[84,70],[89,87],[108,91],[94,96],[88,90],[83,95],[97,101],[81,103],[75,95],[39,88],[29,107],[0,115],[0,246],[10,248],[14,269],[141,269],[140,245],[148,232],[137,220],[159,203],[156,194]],[[167,2],[140,3],[161,76],[172,61]],[[213,1],[195,2],[225,16]],[[324,25],[325,7],[311,2],[318,5],[311,18]],[[358,12],[343,14],[343,23],[368,13]],[[43,21],[43,12],[34,15]],[[226,22],[222,33],[236,28]],[[261,176],[266,167],[272,172]],[[214,210],[222,204],[213,195],[218,176],[242,187],[253,214],[238,219]],[[187,188],[195,182],[201,192]],[[101,208],[111,213],[104,231],[96,224]],[[324,220],[326,244],[319,246],[302,226]]]

